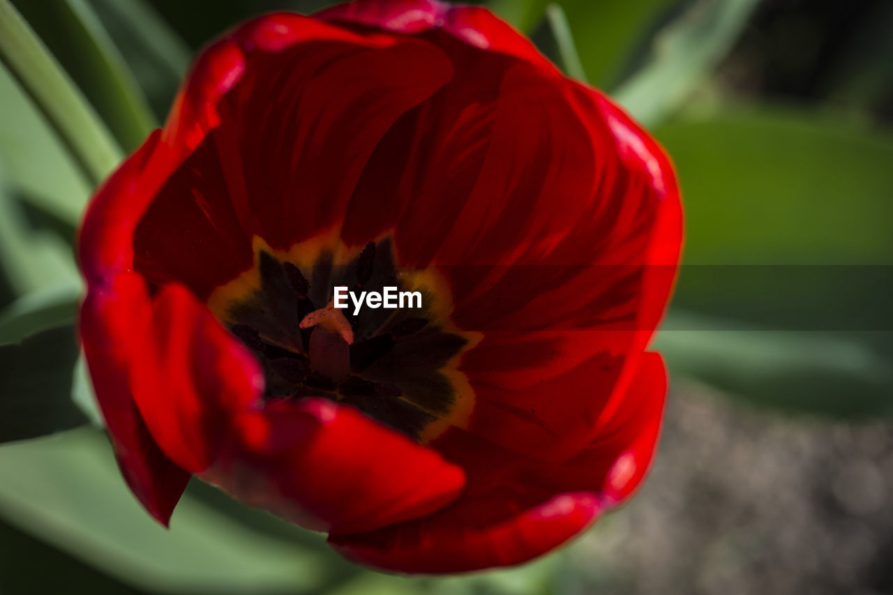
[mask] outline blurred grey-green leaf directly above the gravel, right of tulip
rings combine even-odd
[[[670,314],[654,342],[671,373],[791,413],[893,415],[893,361],[872,349],[893,331],[779,331]],[[867,340],[866,340],[867,339]]]

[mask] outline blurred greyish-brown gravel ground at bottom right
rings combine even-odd
[[[630,504],[567,551],[563,593],[893,592],[893,422],[790,417],[677,386]]]

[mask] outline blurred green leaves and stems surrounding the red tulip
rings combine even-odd
[[[11,4],[0,4],[8,16]],[[42,41],[16,29],[0,43],[0,441],[97,419],[71,331],[81,287],[73,235],[96,172],[163,121],[208,39],[252,14],[327,3],[13,4]],[[893,137],[871,123],[893,88],[889,6],[875,3],[866,41],[814,85],[822,101],[779,105],[735,85],[736,61],[754,59],[755,0],[484,4],[617,96],[673,156],[687,264],[655,342],[672,373],[783,411],[893,414]],[[792,44],[782,53],[808,46]],[[99,139],[98,153],[72,142],[72,130]],[[0,574],[13,591],[58,590],[66,577],[94,593],[545,594],[562,584],[560,553],[468,577],[373,574],[320,536],[198,483],[164,531],[92,427],[0,447],[0,477]]]

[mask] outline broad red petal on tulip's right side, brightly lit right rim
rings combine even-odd
[[[381,189],[405,197],[396,206],[398,254],[409,264],[447,263],[439,269],[455,323],[483,331],[460,368],[476,393],[470,431],[558,459],[585,444],[601,407],[638,369],[675,276],[679,194],[661,149],[600,96],[522,66],[502,76],[492,138],[471,144],[483,147],[464,154],[472,163],[449,161],[469,146],[449,145],[465,140],[455,129],[442,137],[451,150],[426,138],[418,153],[430,161],[402,160],[395,147],[413,147],[409,157],[418,144],[401,131],[373,156],[353,205],[375,204]],[[396,167],[373,175],[388,157],[416,168],[421,185]],[[388,186],[388,178],[400,181]],[[468,189],[467,202],[455,200],[456,188],[459,196]],[[364,218],[374,217],[370,206]]]

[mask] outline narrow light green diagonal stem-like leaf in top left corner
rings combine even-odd
[[[0,59],[38,105],[92,185],[121,161],[93,108],[9,0],[0,0]]]

